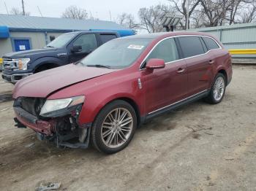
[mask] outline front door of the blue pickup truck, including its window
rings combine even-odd
[[[78,52],[72,51],[72,47],[80,46],[81,50]],[[82,34],[71,43],[69,47],[69,63],[80,61],[82,58],[89,55],[98,47],[95,34]]]

